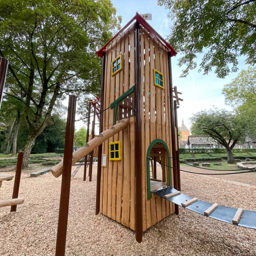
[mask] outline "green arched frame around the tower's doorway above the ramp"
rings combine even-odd
[[[170,151],[169,151],[169,148],[168,146],[166,145],[166,143],[161,140],[161,139],[155,139],[153,140],[149,147],[148,147],[148,150],[147,150],[147,199],[150,200],[150,152],[152,150],[152,148],[154,147],[154,145],[156,143],[161,143],[165,149],[166,149],[166,152],[168,154],[168,173],[169,173],[169,184],[172,184],[172,180],[171,180],[171,157],[170,157]]]

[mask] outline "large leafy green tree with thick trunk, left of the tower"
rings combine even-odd
[[[0,0],[0,55],[9,60],[6,94],[24,104],[24,167],[35,140],[53,123],[57,100],[97,93],[95,51],[119,28],[110,0]]]

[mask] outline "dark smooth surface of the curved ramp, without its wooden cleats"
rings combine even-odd
[[[174,193],[174,192],[178,192],[178,191],[172,187],[165,187],[165,188],[157,189],[155,191],[151,191],[151,193],[158,195],[160,197],[163,197],[165,200],[178,204],[181,207],[183,207],[181,203],[184,203],[193,198],[182,193],[169,198],[164,197],[165,195]],[[205,217],[210,217],[213,219],[217,219],[223,222],[233,224],[232,219],[234,218],[236,211],[238,210],[237,208],[218,205],[218,207],[214,211],[212,211],[210,215],[207,216],[204,214],[204,211],[207,210],[209,207],[211,207],[211,205],[212,203],[197,200],[196,202],[183,208],[202,214]],[[243,210],[242,217],[240,218],[239,223],[233,224],[233,225],[256,229],[256,211]]]

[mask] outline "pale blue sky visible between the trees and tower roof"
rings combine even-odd
[[[171,18],[167,17],[168,11],[165,7],[157,5],[157,0],[140,0],[140,1],[120,1],[112,0],[114,7],[116,8],[116,15],[122,16],[121,26],[124,26],[131,18],[138,13],[152,13],[152,21],[148,23],[163,37],[166,38],[170,34],[170,27],[172,26]],[[216,77],[214,68],[208,75],[198,72],[199,64],[203,55],[198,55],[196,62],[197,68],[189,71],[189,74],[185,78],[180,78],[183,67],[178,66],[178,59],[181,55],[178,53],[175,57],[172,57],[172,80],[173,86],[177,86],[178,91],[182,93],[180,98],[184,101],[180,103],[178,109],[178,125],[181,126],[181,121],[184,119],[184,124],[190,129],[191,124],[189,117],[193,113],[200,110],[207,110],[212,106],[218,108],[225,108],[232,110],[230,106],[225,105],[224,95],[222,94],[222,88],[225,84],[232,82],[238,73],[242,69],[247,69],[248,65],[245,64],[245,58],[240,57],[238,72],[230,73],[224,79]],[[65,101],[67,104],[67,101]],[[84,124],[82,121],[76,122],[76,130],[79,130]],[[97,127],[95,132],[97,131]]]

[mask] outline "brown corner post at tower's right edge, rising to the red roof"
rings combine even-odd
[[[173,93],[172,93],[172,64],[171,53],[168,52],[168,71],[169,71],[169,86],[170,86],[170,103],[171,103],[171,141],[172,141],[172,163],[173,163],[173,183],[174,188],[178,190],[178,174],[176,162],[176,145],[175,145],[175,125],[174,125],[174,109],[173,109]],[[179,214],[179,205],[175,204],[175,213]]]

